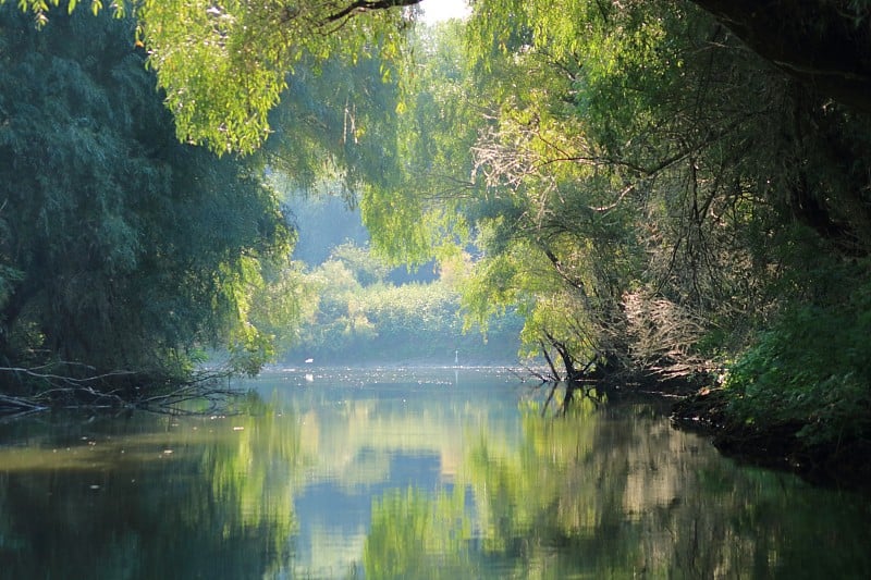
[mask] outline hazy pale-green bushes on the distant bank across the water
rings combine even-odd
[[[298,334],[282,359],[317,365],[516,363],[523,321],[506,313],[487,336],[466,324],[458,289],[462,275],[445,264],[431,281],[390,281],[390,268],[368,247],[345,243],[306,269],[308,299]]]

